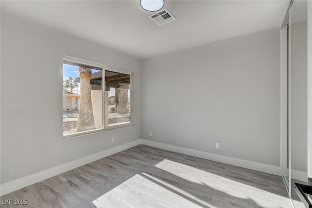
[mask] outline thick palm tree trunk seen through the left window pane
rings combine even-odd
[[[91,69],[78,67],[80,77],[80,103],[77,122],[77,131],[95,129],[92,101],[91,101]]]

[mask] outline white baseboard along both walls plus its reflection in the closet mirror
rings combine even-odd
[[[179,147],[179,146],[167,145],[164,143],[153,142],[149,140],[138,139],[136,141],[133,141],[127,144],[116,146],[111,149],[107,149],[107,150],[95,153],[93,155],[89,155],[89,156],[80,158],[78,160],[71,161],[69,163],[65,163],[60,166],[52,167],[52,168],[43,170],[41,172],[34,173],[32,175],[28,175],[28,176],[16,179],[14,181],[10,181],[5,184],[2,184],[0,185],[0,196],[19,190],[20,188],[38,183],[40,181],[59,175],[66,171],[72,170],[79,166],[92,163],[101,158],[107,157],[109,155],[118,153],[120,151],[123,151],[125,149],[131,148],[133,146],[137,146],[140,144],[147,145],[147,146],[154,146],[157,148],[174,151],[174,152],[181,153],[181,154],[191,155],[191,156],[195,156],[195,157],[199,157],[199,158],[203,158],[207,160],[212,160],[212,161],[216,161],[220,163],[225,163],[225,164],[229,164],[233,166],[239,166],[239,167],[253,169],[253,170],[257,170],[261,172],[271,173],[274,175],[280,175],[280,176],[288,175],[288,169],[278,167],[278,166],[256,163],[256,162],[252,162],[248,160],[242,160],[238,158],[232,158],[232,157],[227,157],[223,155],[217,155],[217,154],[212,154],[208,152],[198,151],[195,149],[189,149],[189,148],[184,148],[184,147]],[[299,181],[307,181],[307,172],[292,170],[292,178],[299,180]]]

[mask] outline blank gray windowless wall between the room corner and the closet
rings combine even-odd
[[[142,139],[279,166],[279,38],[275,28],[142,60]]]

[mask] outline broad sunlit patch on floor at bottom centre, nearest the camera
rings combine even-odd
[[[135,175],[92,202],[97,208],[200,208],[182,196]]]

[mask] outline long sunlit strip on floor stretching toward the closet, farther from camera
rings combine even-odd
[[[239,199],[251,199],[260,207],[292,208],[291,201],[288,197],[239,183],[192,166],[166,159],[155,166],[190,182],[205,185],[207,186],[207,190],[221,191]]]

